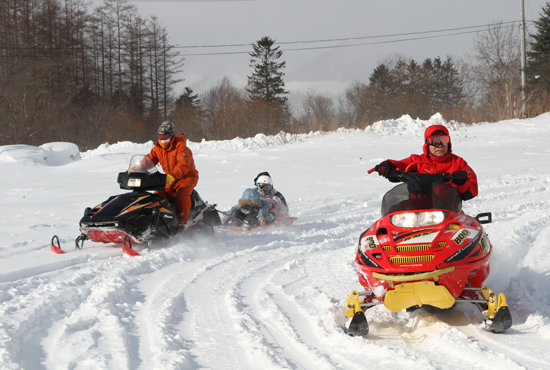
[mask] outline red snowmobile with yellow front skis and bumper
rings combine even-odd
[[[434,173],[409,172],[416,164],[390,174],[402,184],[384,195],[382,218],[359,238],[355,269],[365,292],[346,300],[348,334],[366,335],[365,310],[379,304],[398,312],[456,302],[474,303],[487,329],[503,332],[512,325],[506,298],[483,285],[493,248],[481,225],[492,221],[491,213],[468,216],[447,184],[453,175],[436,174],[435,167]]]

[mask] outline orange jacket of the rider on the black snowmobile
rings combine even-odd
[[[189,177],[196,177],[197,180],[199,178],[193,153],[185,143],[185,134],[174,137],[166,149],[161,147],[157,141],[147,156],[154,164],[160,163],[164,173],[174,176],[176,180],[174,184]]]

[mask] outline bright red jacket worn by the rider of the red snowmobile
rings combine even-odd
[[[468,166],[468,163],[466,163],[464,159],[451,153],[450,142],[449,152],[443,157],[434,157],[433,155],[429,154],[428,144],[424,144],[424,154],[422,155],[412,154],[409,158],[405,158],[401,161],[394,161],[391,159],[389,159],[389,161],[391,161],[395,165],[395,169],[399,171],[405,171],[407,165],[418,161],[433,163],[436,168],[436,173],[453,173],[455,171],[466,171],[466,173],[468,174],[468,180],[466,180],[466,183],[460,186],[452,183],[451,185],[457,188],[463,200],[472,199],[477,196],[477,176],[474,170],[472,170],[470,166]],[[416,171],[431,173],[431,171],[433,170],[431,169],[431,166],[427,164],[419,164]]]

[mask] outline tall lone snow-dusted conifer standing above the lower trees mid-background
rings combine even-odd
[[[274,43],[274,40],[266,36],[252,45],[254,52],[250,53],[250,66],[254,68],[254,73],[248,77],[246,91],[251,101],[284,105],[289,93],[285,90],[282,72],[286,62],[277,62],[283,52],[279,50],[279,46],[273,48]]]

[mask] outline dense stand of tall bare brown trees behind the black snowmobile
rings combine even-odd
[[[149,140],[183,59],[126,1],[0,0],[0,144]]]

